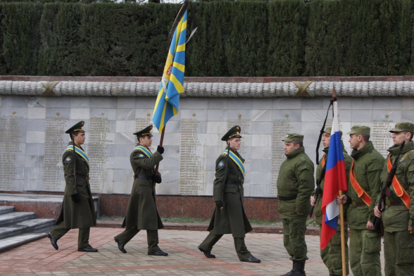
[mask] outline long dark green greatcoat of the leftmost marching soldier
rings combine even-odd
[[[68,146],[73,145],[69,142]],[[82,151],[82,147],[76,146]],[[76,184],[74,178],[74,158],[76,159]],[[89,161],[75,154],[72,149],[66,149],[62,156],[63,172],[65,174],[65,193],[56,225],[63,221],[64,228],[89,228],[96,225],[94,202],[91,187],[86,175],[89,174]],[[79,202],[73,202],[71,195],[78,194]]]

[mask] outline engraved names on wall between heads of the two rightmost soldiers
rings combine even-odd
[[[387,149],[393,145],[390,129],[394,129],[394,123],[391,121],[374,121],[372,122],[371,138],[375,149],[382,156],[387,156]]]

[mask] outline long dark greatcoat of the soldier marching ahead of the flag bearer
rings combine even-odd
[[[230,150],[235,153],[243,163],[245,162],[237,151],[234,151],[232,148],[230,148]],[[227,180],[225,184],[224,180],[226,172]],[[252,230],[252,227],[243,207],[243,173],[236,163],[227,157],[227,154],[222,153],[216,160],[215,177],[213,182],[213,199],[214,201],[221,200],[223,202],[223,209],[220,210],[216,208],[214,210],[214,214],[207,230],[212,230],[214,235],[232,234],[233,238],[244,238],[245,234]],[[231,182],[234,181],[238,181],[240,184],[231,184]]]

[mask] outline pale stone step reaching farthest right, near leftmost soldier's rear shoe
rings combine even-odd
[[[54,219],[31,219],[0,227],[0,239],[24,233],[47,233],[55,225]]]

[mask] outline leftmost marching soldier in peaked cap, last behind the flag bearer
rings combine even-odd
[[[62,156],[66,182],[65,194],[56,225],[47,233],[56,250],[59,248],[57,240],[70,229],[78,228],[77,251],[98,252],[89,244],[89,232],[91,226],[96,225],[96,216],[89,185],[89,159],[81,147],[85,143],[83,125],[84,122],[80,121],[65,132],[72,140]]]

